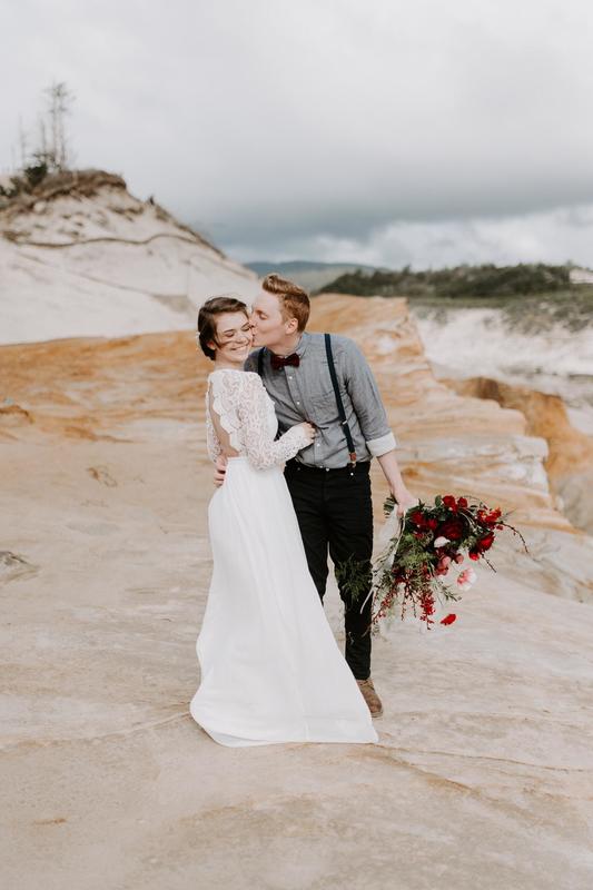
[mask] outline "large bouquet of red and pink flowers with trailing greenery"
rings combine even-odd
[[[394,507],[395,501],[388,497],[387,516]],[[527,552],[521,532],[506,522],[507,515],[475,498],[451,494],[438,495],[432,505],[421,502],[408,510],[398,520],[399,527],[389,537],[373,571],[372,626],[376,627],[380,619],[399,615],[404,620],[412,613],[431,629],[435,624],[437,601],[455,602],[474,584],[474,568],[462,565],[466,557],[476,563],[483,560],[496,571],[486,553],[498,532],[511,530]],[[439,623],[452,624],[456,617],[449,612]]]

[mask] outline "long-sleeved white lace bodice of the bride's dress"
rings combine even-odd
[[[211,461],[223,453],[210,409],[228,433],[231,448],[248,457],[258,469],[283,464],[309,442],[300,426],[293,426],[275,441],[278,422],[274,403],[258,374],[224,368],[208,376],[206,435]]]

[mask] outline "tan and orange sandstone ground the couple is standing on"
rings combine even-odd
[[[376,642],[378,745],[219,748],[187,711],[208,362],[190,332],[0,348],[7,886],[591,887],[592,546],[545,445],[435,382],[403,300],[323,297],[312,327],[372,360],[411,488],[514,507],[531,555],[496,553],[451,630]]]

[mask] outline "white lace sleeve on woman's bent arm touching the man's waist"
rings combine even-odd
[[[245,374],[245,383],[237,406],[240,437],[249,461],[258,469],[289,461],[309,442],[302,426],[293,426],[280,438],[274,439],[269,429],[268,396],[257,374]]]

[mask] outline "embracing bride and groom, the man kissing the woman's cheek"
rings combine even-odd
[[[360,613],[366,592],[353,601],[340,590],[344,660],[322,604],[327,556],[362,565],[370,585],[372,457],[401,513],[416,500],[363,354],[346,337],[307,334],[308,316],[307,294],[268,275],[250,316],[221,296],[198,317],[215,365],[206,431],[219,487],[190,711],[229,746],[374,742],[372,718],[383,712],[370,679],[370,601]]]

